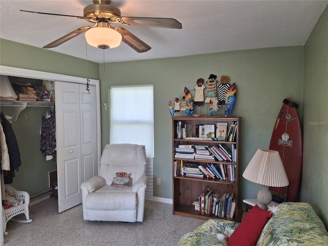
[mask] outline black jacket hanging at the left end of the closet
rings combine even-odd
[[[17,139],[14,130],[11,127],[11,123],[6,119],[5,115],[1,113],[1,125],[3,127],[3,133],[6,137],[6,144],[9,154],[10,170],[3,170],[4,182],[12,183],[15,171],[22,165],[20,161],[20,153],[18,148]],[[3,151],[3,149],[1,149]]]

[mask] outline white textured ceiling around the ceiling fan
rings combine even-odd
[[[19,11],[83,16],[90,1],[0,1],[0,37],[42,48],[83,26],[83,19]],[[304,45],[328,1],[112,1],[122,16],[175,18],[182,29],[128,26],[152,49],[137,53],[125,43],[105,50],[105,62],[154,59],[232,50]],[[113,25],[117,26],[117,25]],[[87,47],[87,48],[86,48]],[[84,34],[49,49],[104,62],[102,49]]]

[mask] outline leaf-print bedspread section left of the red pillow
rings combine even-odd
[[[226,240],[217,238],[217,234],[230,237],[238,224],[238,222],[223,219],[209,219],[195,230],[183,235],[177,246],[228,246]]]

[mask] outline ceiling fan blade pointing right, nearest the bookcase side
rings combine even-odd
[[[120,20],[123,22],[121,23]],[[128,25],[147,25],[152,27],[165,27],[181,29],[182,25],[173,18],[149,18],[149,17],[120,17],[118,23]]]

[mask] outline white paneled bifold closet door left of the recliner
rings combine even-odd
[[[82,202],[80,185],[97,170],[96,95],[56,81],[58,212]]]

